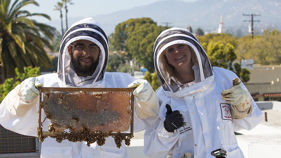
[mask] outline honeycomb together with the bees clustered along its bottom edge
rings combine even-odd
[[[43,93],[40,107],[46,118],[51,120],[49,131],[42,131],[40,126],[43,124],[39,122],[40,141],[51,136],[59,143],[67,139],[72,142],[87,141],[88,146],[95,141],[98,145],[103,145],[105,138],[114,132],[117,147],[120,148],[122,140],[130,145],[133,135],[126,133],[126,138],[121,132],[127,131],[132,122],[132,91],[67,91],[50,88],[40,92]],[[66,132],[67,129],[69,133]]]

